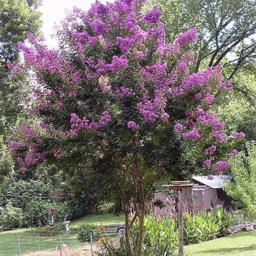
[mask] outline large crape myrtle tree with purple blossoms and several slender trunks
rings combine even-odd
[[[191,73],[196,29],[166,44],[161,12],[154,6],[143,14],[144,2],[95,2],[87,12],[75,8],[58,30],[57,50],[30,34],[31,47],[19,44],[24,65],[9,64],[34,74],[30,113],[40,120],[38,127],[22,125],[18,142],[10,142],[21,169],[47,160],[112,175],[129,255],[132,246],[142,254],[153,184],[182,161],[183,153],[218,174],[230,167],[223,160],[230,154],[230,138],[210,108],[213,93],[231,90],[231,81],[223,81],[220,66]],[[132,244],[129,231],[136,219],[140,228]]]

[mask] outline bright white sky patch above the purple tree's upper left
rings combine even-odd
[[[42,6],[39,9],[42,12],[42,33],[46,43],[50,48],[57,47],[57,41],[52,39],[55,23],[60,23],[65,17],[65,12],[73,9],[73,6],[82,10],[88,10],[95,0],[42,0]],[[106,0],[100,0],[105,3]],[[111,2],[111,1],[108,1]]]

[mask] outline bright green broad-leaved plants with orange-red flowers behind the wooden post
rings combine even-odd
[[[232,223],[231,214],[222,207],[211,212],[183,215],[185,244],[195,244],[201,241],[223,236]],[[148,215],[144,222],[143,255],[172,256],[178,245],[177,216],[154,217]],[[132,230],[133,242],[137,243],[138,223]]]

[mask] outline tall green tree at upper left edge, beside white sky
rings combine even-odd
[[[38,4],[38,0],[0,0],[0,134],[15,123],[27,97],[24,83],[10,74],[7,64],[19,61],[18,42],[24,42],[28,32],[38,32],[41,14],[34,9]]]

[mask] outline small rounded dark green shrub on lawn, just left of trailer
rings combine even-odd
[[[97,225],[93,223],[81,223],[78,226],[78,241],[81,243],[90,242],[90,237],[92,236],[92,240],[95,241],[98,238]]]

